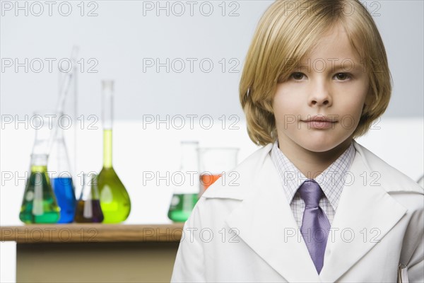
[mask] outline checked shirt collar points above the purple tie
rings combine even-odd
[[[340,200],[340,195],[344,186],[345,175],[352,165],[355,152],[355,147],[353,143],[351,143],[348,149],[346,149],[341,156],[338,156],[336,161],[331,163],[326,170],[315,178],[315,181],[322,188],[324,195],[329,200],[334,210],[337,209],[338,201]],[[305,177],[305,175],[303,175],[303,173],[300,172],[278,148],[278,141],[273,144],[271,159],[280,175],[285,196],[290,204],[298,188],[307,180],[307,177]]]

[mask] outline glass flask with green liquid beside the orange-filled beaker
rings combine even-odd
[[[181,141],[181,166],[178,174],[181,180],[175,183],[174,194],[168,211],[168,218],[176,222],[187,221],[199,198],[197,149],[198,141]]]

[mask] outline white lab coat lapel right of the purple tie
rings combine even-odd
[[[327,241],[324,266],[319,275],[323,282],[336,282],[406,213],[406,209],[379,185],[379,175],[384,172],[371,171],[367,154],[358,144],[355,148],[357,153]]]

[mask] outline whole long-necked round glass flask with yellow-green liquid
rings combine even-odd
[[[113,81],[102,81],[103,168],[98,176],[103,223],[124,221],[131,211],[128,192],[112,167]]]

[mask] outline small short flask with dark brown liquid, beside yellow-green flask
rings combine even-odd
[[[78,199],[75,221],[78,223],[100,223],[104,219],[100,207],[98,175],[83,174],[83,190]]]

